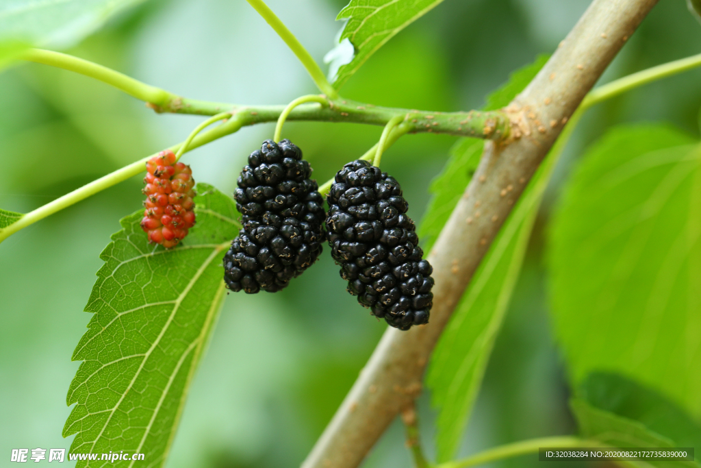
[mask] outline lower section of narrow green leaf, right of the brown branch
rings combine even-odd
[[[494,340],[521,271],[555,159],[541,165],[470,281],[433,352],[427,384],[437,417],[438,461],[451,460],[465,431]]]

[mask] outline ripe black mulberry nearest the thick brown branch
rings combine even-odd
[[[348,292],[400,330],[428,323],[433,268],[421,259],[399,183],[359,159],[336,173],[327,200],[331,255]]]

